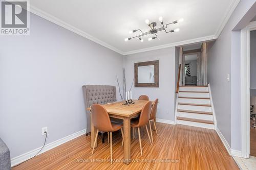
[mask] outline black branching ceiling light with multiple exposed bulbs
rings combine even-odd
[[[164,24],[163,24],[163,17],[160,16],[160,17],[159,17],[159,21],[160,21],[162,27],[156,29],[155,27],[157,26],[157,22],[151,22],[151,23],[150,23],[150,20],[146,19],[145,22],[146,22],[147,26],[150,27],[150,31],[145,32],[145,33],[142,32],[140,29],[138,29],[138,30],[133,30],[133,31],[129,31],[130,34],[135,33],[135,32],[137,32],[137,31],[140,31],[141,34],[140,34],[140,35],[137,35],[137,36],[134,36],[134,37],[125,38],[124,41],[128,41],[128,40],[131,40],[131,39],[133,39],[133,38],[138,38],[141,42],[143,42],[142,36],[145,36],[145,35],[148,35],[148,34],[152,34],[152,35],[154,35],[154,36],[148,38],[148,41],[151,41],[151,40],[157,38],[157,34],[156,34],[156,33],[158,33],[159,31],[165,31],[166,33],[179,32],[179,31],[180,31],[179,28],[177,28],[177,29],[175,29],[175,30],[170,30],[170,31],[166,31],[166,29],[167,29],[167,26],[168,26],[168,25],[175,24],[175,23],[178,23],[178,22],[182,22],[183,20],[184,20],[184,19],[181,18],[181,19],[179,19],[179,20],[173,21],[172,23],[167,23],[167,24],[164,26]]]

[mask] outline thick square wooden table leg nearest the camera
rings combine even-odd
[[[131,160],[131,120],[129,117],[123,119],[123,133],[124,163],[129,164]]]

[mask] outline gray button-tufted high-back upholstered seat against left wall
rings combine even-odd
[[[116,86],[109,85],[84,85],[83,99],[86,108],[91,107],[93,104],[107,104],[116,102]],[[91,116],[90,111],[86,110],[87,128],[86,134],[91,132]],[[103,134],[103,132],[100,132]],[[102,138],[103,139],[103,138]],[[104,141],[104,140],[102,140]]]

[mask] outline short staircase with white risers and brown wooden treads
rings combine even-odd
[[[208,86],[180,86],[176,123],[215,129]]]

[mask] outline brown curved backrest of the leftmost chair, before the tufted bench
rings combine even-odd
[[[102,105],[93,104],[91,112],[92,122],[95,128],[103,132],[110,132],[113,130],[112,124],[110,122],[110,116]]]

